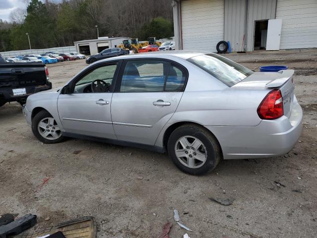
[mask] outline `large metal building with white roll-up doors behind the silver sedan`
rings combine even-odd
[[[317,47],[317,0],[173,0],[176,49]]]

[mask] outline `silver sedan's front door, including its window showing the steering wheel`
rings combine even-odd
[[[75,79],[71,93],[58,96],[58,114],[66,132],[116,139],[110,107],[117,64],[96,65]]]

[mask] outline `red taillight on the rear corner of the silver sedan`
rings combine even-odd
[[[261,102],[257,112],[261,119],[273,120],[282,117],[284,110],[281,91],[279,89],[270,91]]]

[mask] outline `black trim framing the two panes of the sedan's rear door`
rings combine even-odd
[[[141,61],[141,60],[156,60],[156,61],[164,61],[164,62],[169,63],[169,68],[168,68],[167,74],[165,76],[163,91],[159,91],[159,92],[120,92],[122,76],[123,76],[123,72],[124,72],[125,66],[127,64],[127,61],[137,61],[137,60],[139,60],[139,61]],[[184,82],[182,90],[180,90],[180,91],[165,91],[165,86],[166,86],[169,70],[170,70],[170,67],[172,65],[175,65],[177,67],[182,68],[183,71],[185,72],[185,82]],[[116,84],[115,84],[115,88],[114,88],[113,92],[114,93],[175,93],[175,92],[184,92],[186,89],[186,86],[187,86],[188,75],[189,75],[189,73],[188,73],[187,68],[185,66],[181,65],[180,63],[173,61],[173,60],[168,60],[168,59],[164,59],[164,58],[131,58],[131,59],[126,59],[126,60],[122,60],[122,63],[120,65],[120,71],[117,75]]]

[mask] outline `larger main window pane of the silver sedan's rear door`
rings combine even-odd
[[[168,66],[160,60],[127,61],[120,92],[163,92]]]

